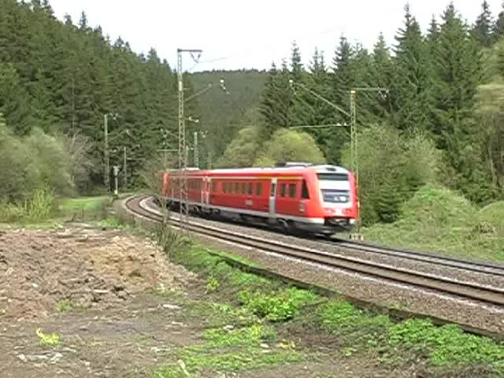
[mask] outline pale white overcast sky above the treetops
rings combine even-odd
[[[456,9],[473,23],[481,10],[479,0],[455,0]],[[487,0],[492,15],[500,12],[501,0]],[[325,52],[329,62],[339,37],[372,48],[383,32],[387,42],[402,25],[402,0],[50,0],[55,16],[68,13],[75,23],[85,11],[90,26],[101,25],[112,40],[121,37],[133,50],[154,47],[170,65],[176,66],[176,49],[201,48],[196,67],[184,55],[184,68],[268,69],[288,57],[292,41],[307,64],[314,47]],[[410,0],[411,12],[425,30],[432,15],[438,19],[450,0]],[[299,5],[298,5],[299,4]]]

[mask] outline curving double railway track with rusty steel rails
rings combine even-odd
[[[143,204],[144,198],[131,198],[125,202],[130,212],[155,222],[162,222],[162,216]],[[171,217],[178,221],[178,217]],[[473,282],[464,282],[449,277],[440,277],[426,272],[403,269],[397,266],[384,265],[372,261],[364,261],[355,257],[335,255],[327,251],[317,250],[306,246],[285,243],[275,240],[265,240],[258,236],[244,235],[219,227],[203,225],[188,221],[184,228],[187,231],[210,236],[220,240],[230,241],[247,247],[253,247],[275,253],[280,256],[315,263],[329,268],[343,269],[352,273],[384,279],[390,282],[407,284],[415,288],[429,289],[442,294],[455,295],[459,298],[470,299],[484,304],[504,306],[504,290],[485,286]],[[433,257],[431,255],[414,253],[411,257],[407,251],[386,249],[360,243],[346,243],[345,247],[372,249],[376,253],[394,254],[401,258],[419,259],[432,264],[449,265],[458,269],[477,271],[479,273],[504,275],[504,269],[498,265],[484,263],[469,263],[462,260]],[[500,269],[499,269],[500,268]]]

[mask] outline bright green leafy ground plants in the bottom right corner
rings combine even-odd
[[[323,304],[318,316],[325,329],[344,337],[343,355],[374,347],[395,357],[406,355],[408,350],[426,355],[434,366],[489,364],[504,368],[504,343],[464,333],[456,325],[437,327],[419,319],[395,324],[386,316],[369,314],[345,301]]]

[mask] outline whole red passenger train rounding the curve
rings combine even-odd
[[[333,165],[187,169],[190,211],[280,225],[286,231],[351,230],[359,211],[354,175]],[[178,171],[163,174],[162,197],[179,202]]]

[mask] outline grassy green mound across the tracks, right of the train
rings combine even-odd
[[[421,188],[399,220],[363,229],[366,240],[431,250],[476,260],[504,262],[504,202],[478,210],[455,192]]]

